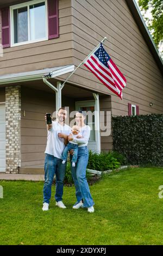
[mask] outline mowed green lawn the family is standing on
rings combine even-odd
[[[64,187],[67,209],[42,211],[43,182],[0,181],[0,245],[162,245],[163,168],[133,168],[90,186],[95,212],[73,210],[74,187]]]

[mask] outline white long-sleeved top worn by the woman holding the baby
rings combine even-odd
[[[91,128],[89,125],[84,125],[83,127],[80,127],[80,134],[83,138],[77,139],[73,138],[73,142],[78,143],[78,147],[84,147],[87,146],[87,143],[89,142],[91,133]]]

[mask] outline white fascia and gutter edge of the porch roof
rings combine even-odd
[[[55,68],[40,69],[28,72],[21,72],[16,74],[7,74],[0,76],[0,85],[8,83],[17,83],[33,80],[41,80],[43,76],[47,76],[50,72],[53,73],[53,77],[57,77],[74,70],[74,65],[57,66]]]

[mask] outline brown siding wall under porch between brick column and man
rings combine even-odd
[[[62,97],[62,106],[74,110],[74,100]],[[23,113],[25,111],[25,117]],[[55,93],[21,88],[21,167],[43,165],[47,143],[45,113],[55,111]]]

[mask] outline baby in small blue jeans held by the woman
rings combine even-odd
[[[73,138],[82,138],[81,135],[79,135],[80,133],[80,129],[79,126],[74,125],[71,129],[72,133],[72,137]],[[67,160],[67,156],[68,156],[68,151],[70,151],[71,149],[73,149],[73,156],[72,156],[72,167],[76,166],[76,162],[77,162],[77,157],[78,157],[78,143],[70,141],[68,142],[67,146],[65,147],[63,153],[62,153],[62,163],[65,163]]]

